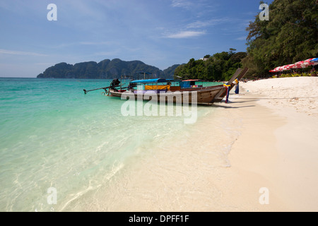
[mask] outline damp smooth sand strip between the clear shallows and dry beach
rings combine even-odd
[[[231,167],[224,172],[225,179],[220,182],[220,186],[226,189],[225,198],[237,206],[237,211],[292,210],[283,201],[283,191],[277,185],[279,178],[276,174],[279,163],[273,133],[283,126],[284,120],[259,105],[257,98],[251,95],[240,101],[231,97],[229,100],[232,101],[229,117],[240,120],[242,128],[228,155]],[[260,191],[264,188],[269,191],[269,204],[259,201]]]

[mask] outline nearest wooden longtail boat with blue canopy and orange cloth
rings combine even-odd
[[[235,86],[234,81],[240,81],[245,76],[248,69],[237,69],[230,81],[224,85],[213,85],[198,88],[181,88],[180,86],[170,85],[171,80],[163,78],[145,79],[130,81],[126,90],[117,87],[118,83],[111,85],[105,92],[112,97],[121,97],[124,100],[153,100],[158,102],[174,103],[196,103],[198,105],[211,105],[213,102],[220,102]],[[163,84],[164,83],[164,84]],[[151,84],[151,85],[149,85]],[[135,89],[143,85],[144,89]],[[141,99],[142,98],[142,99]]]

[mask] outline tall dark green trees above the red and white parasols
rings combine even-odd
[[[317,18],[317,1],[273,1],[269,21],[257,15],[247,28],[248,55],[242,63],[249,68],[248,76],[267,76],[276,66],[316,57]]]

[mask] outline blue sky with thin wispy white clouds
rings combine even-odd
[[[116,58],[164,70],[230,48],[245,52],[245,28],[261,13],[259,5],[257,0],[1,0],[0,77],[35,78],[60,62]]]

